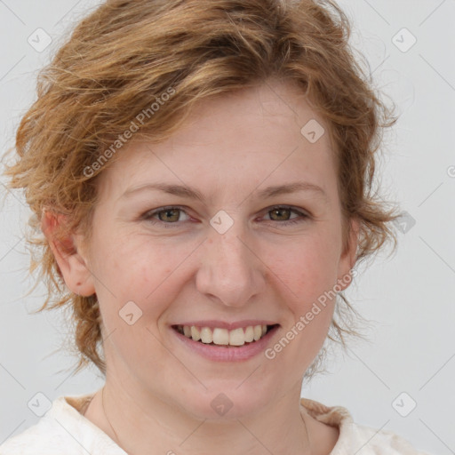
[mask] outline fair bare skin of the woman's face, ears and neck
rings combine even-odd
[[[357,227],[351,221],[344,249],[328,127],[296,87],[279,81],[204,100],[190,119],[169,140],[132,141],[118,152],[100,175],[87,245],[83,234],[68,236],[76,250],[65,255],[52,237],[63,221],[44,217],[68,288],[96,292],[100,301],[106,413],[98,392],[85,417],[131,454],[152,447],[153,453],[199,455],[328,454],[338,429],[307,411],[300,415],[299,396],[334,301],[273,360],[261,354],[212,362],[182,346],[170,328],[200,319],[266,319],[280,324],[267,346],[273,347],[346,277],[355,264]],[[300,133],[311,119],[326,131],[314,144]],[[269,185],[297,180],[319,186],[325,196],[257,197]],[[123,196],[154,181],[197,188],[205,202],[153,190]],[[274,217],[277,204],[309,217],[292,211]],[[169,205],[183,212],[141,218]],[[220,210],[234,221],[224,234],[210,225]],[[283,225],[291,219],[300,222]],[[118,315],[128,301],[142,311],[132,325]],[[211,406],[220,393],[233,403],[224,416]]]

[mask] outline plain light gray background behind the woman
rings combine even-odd
[[[2,154],[34,100],[37,70],[62,34],[96,4],[0,0]],[[387,135],[380,172],[382,194],[399,201],[408,218],[400,225],[395,255],[380,255],[347,292],[375,322],[368,332],[371,341],[356,342],[347,355],[338,351],[330,374],[316,377],[302,395],[345,406],[356,422],[394,431],[421,450],[455,453],[455,1],[339,4],[353,20],[353,44],[400,114]],[[52,37],[43,52],[28,44],[37,28]],[[409,48],[412,36],[417,42]],[[3,183],[0,190],[6,196],[0,218],[2,443],[38,420],[40,410],[28,407],[37,393],[52,401],[91,392],[102,381],[94,369],[71,376],[75,358],[59,351],[68,331],[64,314],[33,314],[44,289],[27,295],[33,283],[23,241],[28,211],[19,194],[8,194]]]

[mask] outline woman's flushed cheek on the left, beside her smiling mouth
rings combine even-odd
[[[156,325],[177,297],[179,286],[173,272],[181,262],[180,255],[143,240],[125,239],[115,249],[108,244],[99,244],[97,257],[102,259],[93,270],[98,278],[103,337],[109,339],[105,353],[111,363],[120,355],[138,368],[159,371],[167,362],[167,353],[156,341]]]

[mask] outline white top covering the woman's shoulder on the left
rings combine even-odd
[[[1,455],[125,455],[125,452],[70,405],[89,395],[60,396],[38,422],[0,445]]]

